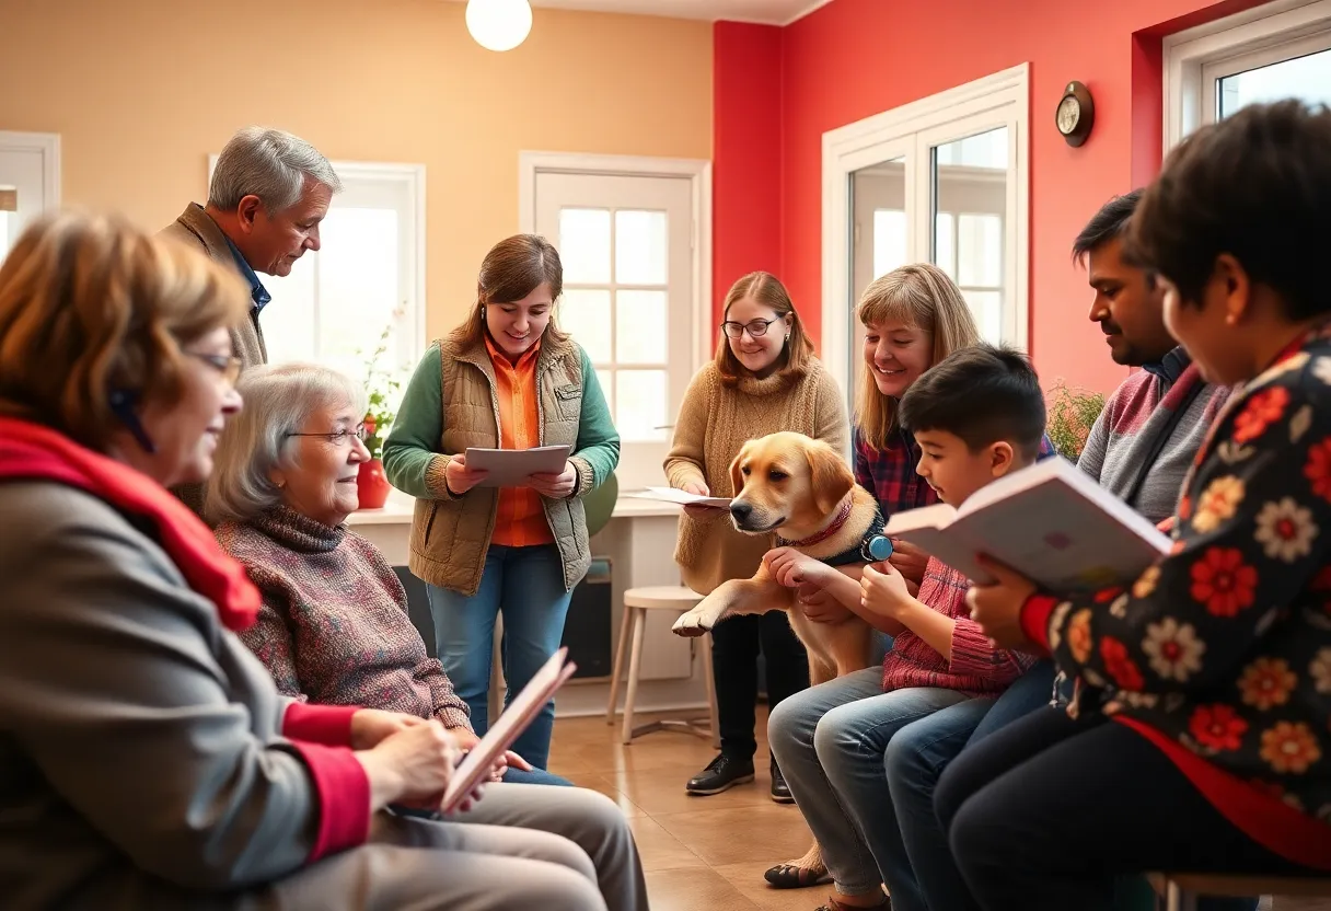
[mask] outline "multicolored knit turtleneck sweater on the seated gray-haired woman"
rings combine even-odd
[[[264,595],[258,622],[240,637],[281,693],[470,730],[467,705],[426,655],[402,582],[374,545],[285,506],[224,522],[217,539]]]

